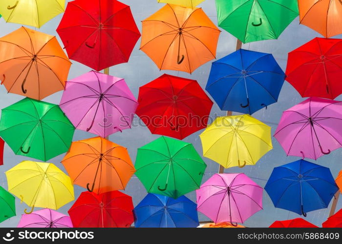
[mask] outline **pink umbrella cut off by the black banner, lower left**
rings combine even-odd
[[[30,214],[21,215],[17,227],[23,228],[72,228],[69,216],[60,212],[44,208]]]

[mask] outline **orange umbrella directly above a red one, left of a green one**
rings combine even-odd
[[[62,163],[74,184],[96,194],[125,189],[135,172],[127,149],[102,137],[72,142]]]

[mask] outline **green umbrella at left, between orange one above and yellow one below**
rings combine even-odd
[[[0,136],[17,155],[47,161],[69,149],[74,131],[56,104],[24,98],[1,112]]]

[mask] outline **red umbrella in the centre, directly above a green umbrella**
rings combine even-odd
[[[180,140],[207,126],[213,106],[197,81],[166,74],[141,86],[138,102],[152,134]]]

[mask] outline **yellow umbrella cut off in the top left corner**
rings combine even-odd
[[[65,0],[1,0],[0,15],[6,22],[40,28],[65,10]]]

